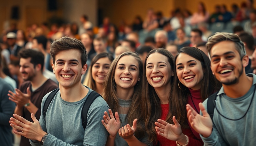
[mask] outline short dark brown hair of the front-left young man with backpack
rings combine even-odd
[[[55,40],[50,44],[50,54],[53,58],[53,63],[55,63],[55,56],[60,51],[70,49],[77,49],[80,51],[82,66],[84,66],[87,61],[85,46],[80,40],[77,40],[76,38],[69,38],[67,36],[62,37],[59,40]]]

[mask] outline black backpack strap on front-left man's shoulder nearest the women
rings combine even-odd
[[[99,93],[92,91],[87,96],[87,98],[83,104],[83,108],[82,108],[82,112],[81,112],[83,129],[85,129],[87,126],[87,114],[88,114],[89,108],[90,108],[91,104],[94,102],[94,100],[96,98],[98,98],[99,96],[102,97]]]

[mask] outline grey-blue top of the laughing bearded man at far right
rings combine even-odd
[[[228,97],[223,87],[217,94],[216,98],[216,108],[219,112],[229,119],[239,119],[247,111],[249,104],[252,100],[252,96],[255,91],[256,86],[256,75],[247,74],[247,76],[253,77],[253,85],[250,90],[242,97],[230,98]],[[239,89],[237,89],[239,90]],[[240,120],[229,120],[222,117],[214,109],[213,114],[213,132],[207,138],[201,138],[205,145],[214,146],[225,146],[225,145],[255,145],[256,144],[256,93],[252,100],[252,104],[246,113],[245,117]],[[208,100],[208,99],[207,99]],[[203,102],[203,106],[207,110],[207,100]]]

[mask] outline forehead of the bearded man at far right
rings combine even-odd
[[[236,50],[235,42],[232,41],[221,41],[212,46],[210,54],[213,55],[223,55],[226,52],[234,52],[239,55],[239,52]]]

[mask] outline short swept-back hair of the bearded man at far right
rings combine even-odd
[[[222,41],[232,41],[235,43],[235,49],[239,52],[241,58],[246,55],[245,45],[241,39],[233,33],[215,33],[213,36],[209,37],[206,43],[206,49],[210,54],[211,48]],[[211,54],[210,54],[211,55]]]

